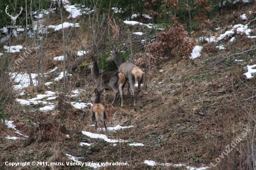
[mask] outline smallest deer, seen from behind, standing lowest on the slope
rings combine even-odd
[[[104,123],[106,132],[108,134],[107,125],[106,125],[107,112],[105,110],[104,105],[101,104],[101,93],[103,92],[103,90],[104,88],[101,89],[100,92],[98,91],[98,89],[94,90],[94,94],[91,98],[91,100],[94,101],[94,105],[91,107],[90,118],[93,121],[93,124],[95,126],[95,133],[98,133],[97,127],[99,126],[99,130],[100,130],[101,124]]]

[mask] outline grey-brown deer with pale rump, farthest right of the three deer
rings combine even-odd
[[[134,98],[134,110],[136,111],[136,97],[140,92],[141,83],[143,81],[144,73],[136,65],[132,64],[130,61],[124,62],[119,55],[120,47],[117,46],[113,48],[113,52],[106,59],[107,62],[114,61],[117,65],[118,71],[123,72],[128,82],[128,91],[132,94]],[[138,82],[138,90],[135,93],[135,84]],[[132,92],[130,91],[132,89]]]

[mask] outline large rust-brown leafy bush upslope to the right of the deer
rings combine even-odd
[[[181,24],[175,22],[168,31],[159,33],[155,42],[148,44],[146,48],[156,59],[189,59],[194,46],[195,42],[188,37],[188,32]]]

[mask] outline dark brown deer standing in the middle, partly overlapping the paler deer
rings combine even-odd
[[[115,92],[115,98],[117,97],[118,93],[121,96],[121,107],[123,107],[123,88],[125,86],[126,78],[124,73],[122,72],[102,72],[100,73],[98,62],[101,60],[101,57],[96,61],[93,61],[89,68],[91,69],[91,75],[96,83],[98,88],[103,86],[104,92],[105,90],[113,90]],[[112,101],[112,105],[115,102],[115,98]]]

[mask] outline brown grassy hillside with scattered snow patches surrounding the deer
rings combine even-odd
[[[53,11],[48,17],[43,11],[42,18],[34,21],[30,29],[39,31],[38,36],[28,31],[34,86],[29,84],[27,59],[21,58],[26,52],[24,30],[14,31],[17,36],[1,45],[1,57],[12,61],[9,72],[1,70],[5,78],[0,82],[6,86],[0,90],[8,94],[6,121],[0,124],[1,170],[254,169],[254,3],[214,16],[207,34],[192,36],[196,46],[190,59],[168,58],[151,65],[155,72],[143,80],[137,111],[128,85],[122,108],[119,97],[111,105],[115,93],[107,91],[102,104],[108,112],[108,135],[95,134],[90,120],[96,85],[88,65],[102,56],[100,67],[106,67],[104,60],[114,45],[121,47],[123,58],[135,63],[139,59],[135,54],[145,49],[145,42],[153,43],[164,28],[145,17],[121,23],[118,38],[105,25],[106,33],[97,37],[90,32],[91,18],[84,16],[93,11],[65,5],[61,16]],[[101,33],[101,23],[97,24],[94,31]],[[44,63],[40,63],[42,56]],[[115,68],[114,64],[108,66]],[[44,75],[38,65],[43,65]],[[44,78],[39,79],[39,74]],[[44,85],[36,87],[40,81]],[[32,165],[33,161],[41,164]]]

